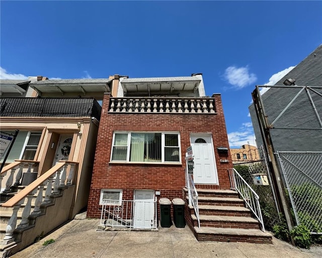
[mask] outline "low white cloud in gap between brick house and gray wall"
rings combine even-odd
[[[256,146],[255,134],[251,122],[245,122],[239,128],[238,132],[231,132],[228,134],[228,141],[230,148],[240,148],[242,145]]]

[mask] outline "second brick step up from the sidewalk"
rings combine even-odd
[[[194,226],[198,225],[197,217],[191,215]],[[259,229],[258,220],[251,217],[200,215],[200,226],[222,228]]]

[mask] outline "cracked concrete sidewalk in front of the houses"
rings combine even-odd
[[[322,247],[300,249],[274,237],[273,244],[198,242],[188,226],[159,227],[158,231],[97,231],[100,220],[84,217],[76,216],[12,257],[322,257]],[[51,238],[54,243],[42,245]]]

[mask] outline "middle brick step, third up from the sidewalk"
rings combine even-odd
[[[199,215],[250,217],[251,211],[240,206],[199,205]]]

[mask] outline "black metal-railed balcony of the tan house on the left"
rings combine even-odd
[[[102,107],[94,98],[1,98],[0,116],[78,117],[100,120]]]

